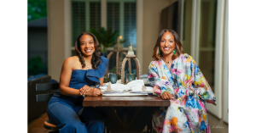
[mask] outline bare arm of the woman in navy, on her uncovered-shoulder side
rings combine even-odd
[[[60,91],[61,94],[70,97],[80,96],[80,90],[73,89],[69,86],[69,81],[72,75],[73,64],[75,64],[74,58],[67,58],[62,64],[61,77],[60,77]]]

